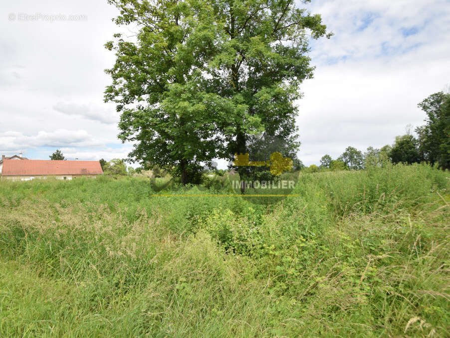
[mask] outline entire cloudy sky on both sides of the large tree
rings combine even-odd
[[[2,1],[0,154],[48,159],[126,158],[118,114],[103,103],[104,49],[118,28],[106,0]],[[318,164],[347,146],[382,147],[423,124],[417,103],[450,84],[450,0],[312,0],[334,32],[312,41],[302,85],[299,158]],[[72,20],[64,20],[75,15]],[[133,32],[129,32],[133,35]]]

